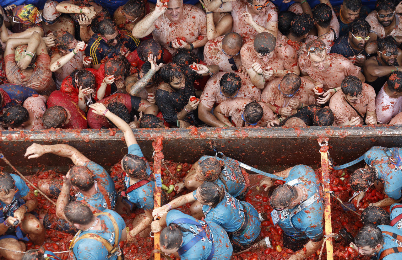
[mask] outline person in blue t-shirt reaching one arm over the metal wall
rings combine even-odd
[[[89,106],[93,112],[100,116],[105,116],[124,134],[125,142],[128,147],[128,154],[121,160],[121,166],[125,171],[125,186],[127,191],[125,196],[131,207],[134,205],[139,209],[144,209],[145,213],[137,214],[133,221],[133,229],[127,232],[127,240],[135,241],[135,236],[147,237],[148,232],[144,232],[152,222],[152,209],[154,208],[154,189],[155,180],[151,175],[151,168],[141,152],[137,140],[130,126],[121,118],[110,112],[102,103],[94,103]]]

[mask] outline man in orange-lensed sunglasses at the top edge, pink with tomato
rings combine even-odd
[[[213,0],[208,4],[213,12],[231,12],[232,32],[255,37],[267,32],[278,36],[278,13],[269,0]]]

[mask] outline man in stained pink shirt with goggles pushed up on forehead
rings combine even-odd
[[[325,104],[332,95],[340,91],[340,84],[346,76],[358,77],[361,82],[365,77],[361,68],[353,65],[353,62],[340,54],[326,52],[323,41],[316,39],[306,45],[306,53],[299,56],[301,76],[310,79],[316,87],[316,95],[322,96],[317,99],[318,104]]]

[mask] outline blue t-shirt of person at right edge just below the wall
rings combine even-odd
[[[400,159],[402,148],[389,148],[394,152],[395,158]],[[364,154],[364,160],[367,165],[375,167],[378,173],[378,179],[384,183],[384,193],[392,199],[399,199],[402,196],[402,166],[395,167],[390,162],[388,156],[381,148],[371,148]],[[388,165],[390,167],[388,167]]]

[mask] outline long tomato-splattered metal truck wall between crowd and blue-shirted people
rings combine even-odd
[[[153,152],[152,141],[162,135],[165,160],[193,163],[204,154],[214,154],[208,148],[213,142],[226,156],[267,171],[297,164],[317,166],[320,163],[319,138],[328,138],[331,157],[340,164],[359,157],[371,146],[402,147],[402,126],[138,129],[134,134],[148,160]],[[67,158],[46,154],[28,160],[24,154],[33,143],[70,144],[109,169],[127,153],[123,140],[122,132],[116,129],[4,130],[0,135],[0,152],[26,174],[42,169],[63,172],[72,166]],[[3,162],[0,166],[6,167]],[[8,167],[5,170],[10,171]]]

